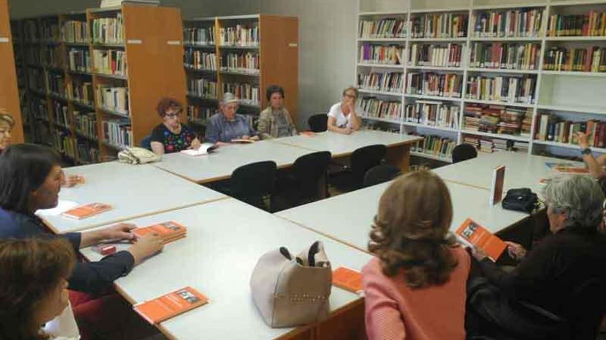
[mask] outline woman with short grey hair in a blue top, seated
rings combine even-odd
[[[221,100],[221,112],[213,115],[208,124],[206,138],[218,146],[229,144],[234,139],[258,140],[257,133],[243,115],[238,115],[238,98],[226,92]]]

